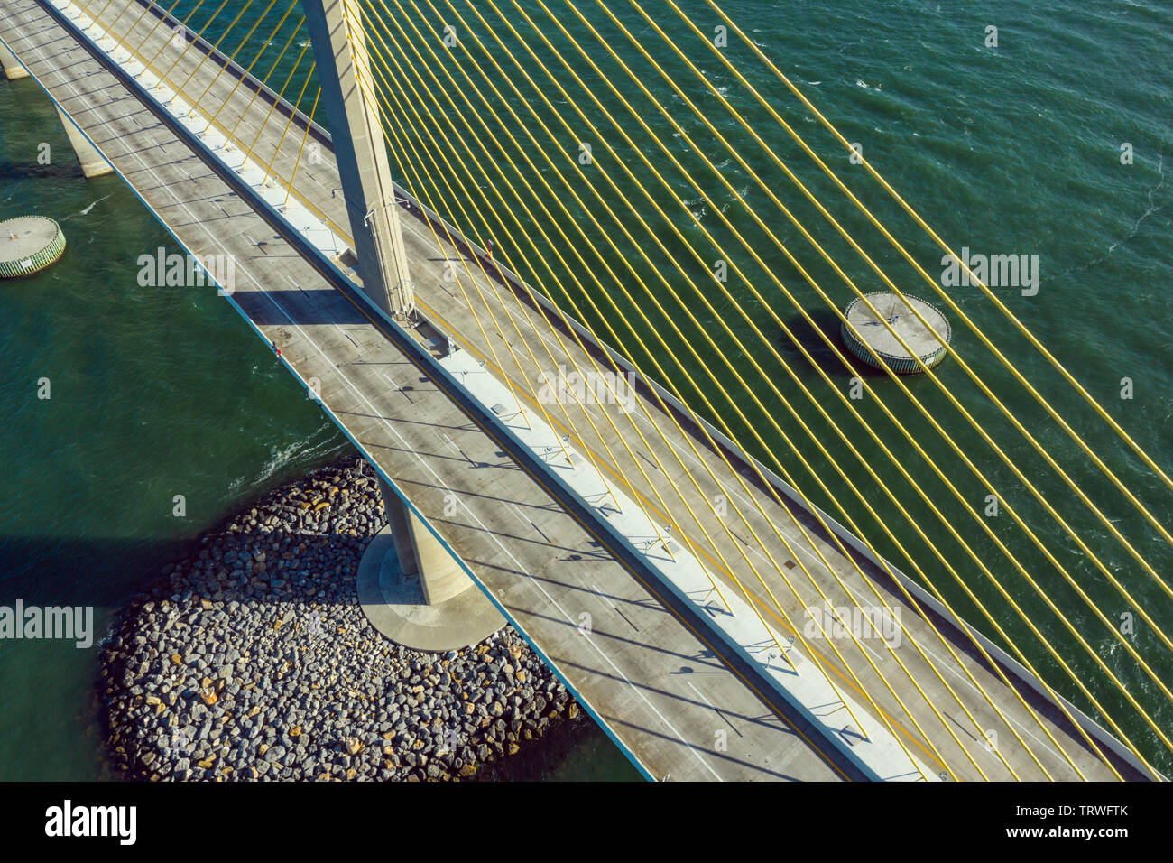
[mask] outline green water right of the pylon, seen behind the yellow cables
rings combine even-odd
[[[382,47],[387,74],[380,77],[391,124],[399,129],[393,150],[405,154],[399,170],[415,194],[482,242],[491,237],[497,256],[567,308],[578,309],[637,365],[674,384],[687,404],[793,478],[906,572],[937,585],[961,614],[998,638],[958,587],[956,573],[1023,646],[1029,661],[1097,714],[1035,641],[1030,628],[1037,627],[1100,704],[1121,717],[1121,730],[1157,763],[1173,763],[1146,723],[1128,717],[1126,697],[1096,659],[1104,659],[1158,727],[1173,726],[1168,701],[1108,628],[1121,615],[1137,618],[1137,608],[1147,611],[1160,629],[1169,628],[1173,604],[1161,580],[1173,554],[1050,419],[1046,406],[1066,418],[1159,521],[1169,517],[1169,488],[976,288],[947,291],[960,309],[949,312],[954,344],[976,380],[948,360],[938,370],[940,387],[923,378],[909,382],[914,400],[887,377],[859,364],[845,366],[835,357],[819,333],[838,344],[839,322],[814,285],[840,308],[855,296],[847,279],[863,291],[887,285],[792,182],[787,167],[827,202],[845,232],[897,286],[938,305],[942,251],[850,162],[780,79],[730,34],[721,52],[760,92],[761,100],[754,99],[708,50],[705,39],[720,19],[704,4],[687,5],[699,34],[671,12],[656,18],[680,55],[630,4],[577,5],[613,49],[609,54],[596,45],[589,56],[575,46],[590,39],[588,23],[574,15],[569,0],[551,4],[554,15],[541,4],[526,4],[533,20],[523,22],[516,4],[477,4],[481,15],[470,14],[465,4],[420,6],[422,14],[408,14],[402,29],[388,19],[389,34],[398,38]],[[516,29],[497,6],[510,9],[507,16]],[[402,9],[399,4],[394,8]],[[605,16],[606,8],[615,19]],[[1169,9],[1052,0],[1029,6],[745,1],[728,11],[846,140],[862,144],[869,162],[954,249],[1038,257],[1037,284],[995,286],[994,292],[1168,471]],[[440,20],[459,27],[467,47],[450,52],[459,63],[442,49],[428,48],[439,43]],[[986,45],[990,26],[997,28],[996,46]],[[1125,73],[1132,68],[1135,74]],[[531,86],[527,75],[541,86]],[[521,94],[502,83],[506,76]],[[400,92],[400,77],[421,83]],[[686,83],[673,89],[667,79]],[[617,85],[612,89],[609,82]],[[448,99],[456,92],[453,83],[473,94],[468,102]],[[493,99],[494,85],[503,100]],[[476,89],[490,97],[495,113]],[[690,101],[712,126],[696,116]],[[800,150],[779,119],[893,231],[927,281]],[[575,161],[583,163],[584,143],[592,162],[578,171]],[[1121,161],[1123,143],[1134,156],[1128,164]],[[460,156],[468,153],[475,156]],[[549,187],[535,177],[533,166]],[[586,229],[563,235],[558,229],[571,218]],[[841,271],[818,254],[800,227]],[[727,267],[727,291],[711,277],[718,258]],[[800,310],[809,311],[809,318]],[[963,324],[962,312],[972,328]],[[1004,362],[982,346],[981,336]],[[1038,399],[1019,385],[1018,373],[1031,382]],[[874,398],[854,407],[890,457],[867,437],[849,400],[845,404],[829,389],[849,392],[855,375],[868,382]],[[1132,386],[1128,399],[1121,398],[1125,378]],[[1051,453],[1078,492],[982,386],[1035,437],[1038,449]],[[834,464],[843,465],[847,479]],[[988,517],[991,488],[1001,511]],[[1084,506],[1079,492],[1101,515]],[[1116,542],[1112,528],[1153,573]],[[1053,609],[1024,573],[1053,600]],[[1079,591],[1103,611],[1107,626]],[[1168,649],[1152,627],[1141,623],[1130,643],[1159,677],[1168,676]]]

